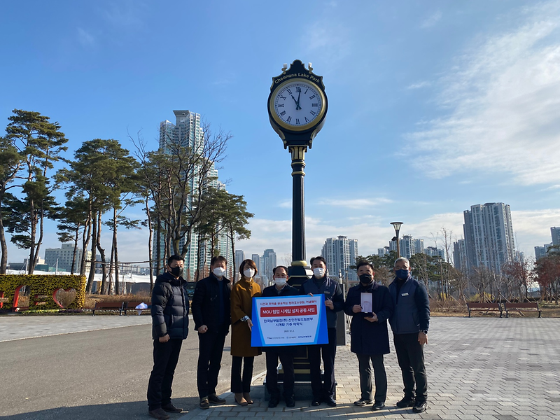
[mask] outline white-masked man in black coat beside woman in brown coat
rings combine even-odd
[[[199,406],[225,404],[216,395],[225,336],[231,324],[230,281],[225,278],[228,260],[218,255],[210,262],[210,275],[197,281],[193,295],[193,320],[198,332],[197,387]]]

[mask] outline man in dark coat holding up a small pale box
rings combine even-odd
[[[372,402],[373,366],[375,395],[372,410],[378,410],[385,407],[387,397],[387,375],[383,355],[389,353],[387,319],[393,314],[393,300],[388,288],[373,279],[375,273],[369,261],[358,262],[356,271],[360,283],[348,290],[344,302],[344,312],[352,317],[350,350],[358,356],[360,368],[362,394],[354,405],[363,407]],[[371,308],[368,307],[367,311],[362,307],[363,296],[370,297]]]

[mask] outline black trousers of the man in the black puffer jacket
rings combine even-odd
[[[173,375],[181,353],[182,339],[160,343],[153,340],[153,369],[148,381],[148,409],[153,410],[171,402]]]

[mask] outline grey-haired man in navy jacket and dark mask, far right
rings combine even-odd
[[[389,318],[389,323],[405,385],[405,397],[397,402],[397,407],[412,407],[412,411],[421,413],[428,407],[428,377],[424,366],[423,346],[428,344],[430,301],[426,287],[421,281],[414,279],[410,271],[407,258],[395,261],[396,277],[389,285],[395,311]]]

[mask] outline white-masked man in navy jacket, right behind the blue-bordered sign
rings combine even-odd
[[[338,281],[327,275],[327,262],[318,256],[311,258],[313,276],[304,281],[300,288],[302,295],[325,295],[327,311],[328,344],[315,344],[307,347],[309,370],[311,371],[311,405],[316,407],[326,402],[329,407],[336,407],[335,395],[335,356],[337,351],[337,312],[344,308],[344,296]],[[321,383],[321,352],[325,367],[325,383]]]

